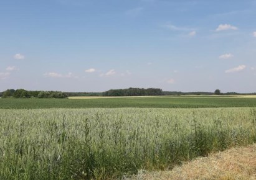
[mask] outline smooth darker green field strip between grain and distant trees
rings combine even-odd
[[[228,97],[228,98],[226,98]],[[45,108],[199,108],[256,107],[256,98],[230,96],[116,97],[99,99],[0,99],[0,109]]]

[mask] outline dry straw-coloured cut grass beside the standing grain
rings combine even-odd
[[[197,158],[172,171],[141,171],[132,179],[256,179],[256,144]]]

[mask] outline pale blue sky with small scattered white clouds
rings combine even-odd
[[[0,0],[0,91],[256,92],[256,1]]]

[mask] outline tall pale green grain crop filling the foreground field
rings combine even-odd
[[[0,110],[0,179],[113,179],[256,142],[255,108]]]

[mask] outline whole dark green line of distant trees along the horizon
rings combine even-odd
[[[216,89],[216,91],[219,89]],[[7,89],[0,92],[2,98],[67,98],[70,96],[181,96],[181,95],[213,95],[216,92],[181,92],[162,91],[159,88],[110,89],[105,92],[61,92],[61,91],[27,91],[25,89]],[[219,95],[256,95],[254,93],[225,92]]]

